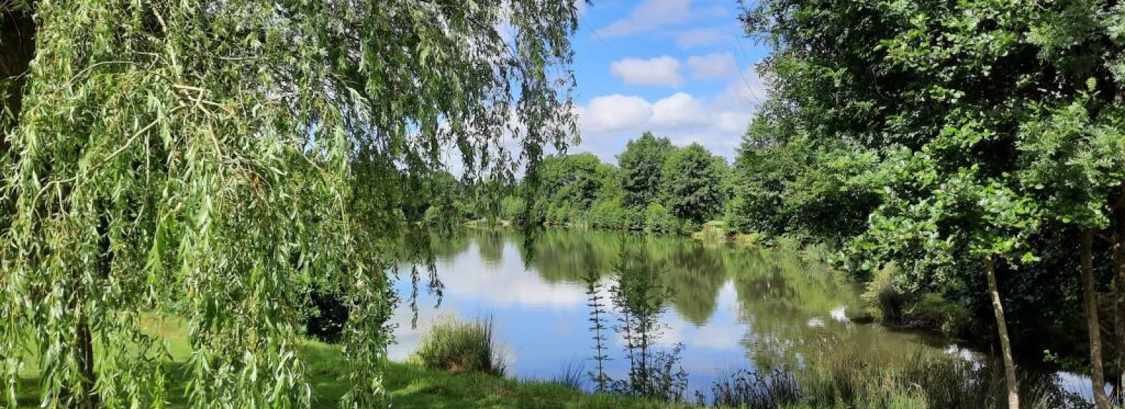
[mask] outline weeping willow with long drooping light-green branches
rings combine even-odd
[[[30,370],[47,408],[308,407],[314,287],[350,308],[342,406],[385,405],[394,192],[565,145],[575,28],[557,0],[0,0],[0,406]],[[152,316],[187,322],[182,376]]]

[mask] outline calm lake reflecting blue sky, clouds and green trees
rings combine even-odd
[[[604,296],[624,248],[636,252],[668,291],[657,344],[683,346],[680,364],[688,391],[705,392],[732,371],[801,367],[810,357],[839,349],[978,356],[942,338],[861,324],[855,319],[864,316],[860,289],[802,252],[567,229],[543,230],[530,244],[508,230],[468,229],[434,239],[441,297],[426,291],[422,274],[415,316],[408,302],[412,280],[403,273],[396,287],[406,301],[394,317],[397,343],[389,356],[405,360],[434,319],[490,317],[508,376],[550,380],[568,365],[588,372],[595,367],[595,343],[583,276],[600,273]],[[613,358],[608,372],[622,379],[629,370],[624,340],[610,333],[606,344]],[[1068,379],[1065,389],[1081,391],[1081,376]]]

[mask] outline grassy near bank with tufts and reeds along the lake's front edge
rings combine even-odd
[[[180,396],[182,389],[174,380],[180,372],[177,366],[183,366],[190,356],[182,324],[176,319],[152,319],[146,327],[148,333],[165,342],[174,360],[171,364],[173,381],[169,389],[169,407],[182,408],[186,406],[184,398]],[[423,343],[411,362],[385,363],[384,385],[395,408],[700,407],[622,394],[584,393],[560,381],[498,376],[496,373],[502,371],[492,361],[495,354],[487,321],[449,321],[441,328],[429,336],[430,339]],[[428,348],[430,352],[426,352]],[[1004,406],[1002,376],[996,365],[975,364],[939,353],[857,348],[840,345],[825,352],[827,355],[809,355],[809,366],[792,373],[781,371],[760,378],[740,372],[710,388],[694,387],[710,390],[716,401],[726,405],[721,408],[956,409]],[[312,387],[313,407],[336,408],[341,397],[350,389],[349,365],[341,349],[305,340],[299,354],[307,363],[306,376]],[[471,356],[476,357],[465,358]],[[475,364],[468,364],[470,362]],[[27,372],[19,388],[19,408],[37,407],[39,397],[36,384],[35,373]],[[1022,392],[1028,408],[1088,407],[1077,397],[1061,393],[1050,379],[1042,376],[1024,376]]]

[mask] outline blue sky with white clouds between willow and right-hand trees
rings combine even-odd
[[[582,0],[579,0],[582,1]],[[764,98],[735,0],[595,0],[574,38],[582,143],[615,162],[645,130],[734,158]]]

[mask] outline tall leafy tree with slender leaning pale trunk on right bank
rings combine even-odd
[[[900,284],[915,288],[948,279],[962,283],[955,287],[976,284],[971,272],[982,270],[992,284],[1014,264],[1001,260],[1027,264],[1040,254],[1073,254],[1027,248],[1026,233],[1034,229],[1015,224],[1012,215],[1038,218],[1028,220],[1037,226],[1104,229],[1104,216],[1079,219],[1072,210],[1100,213],[1118,202],[1120,176],[1104,171],[1117,160],[1094,140],[1098,133],[1120,139],[1114,124],[1120,124],[1115,112],[1125,82],[1122,7],[1102,0],[763,1],[744,16],[749,30],[774,47],[763,66],[772,78],[771,100],[757,127],[785,134],[772,137],[782,144],[800,135],[879,155],[879,165],[856,178],[878,188],[872,191],[881,204],[853,255],[881,248],[883,260],[906,266]],[[1084,130],[1056,133],[1064,135],[1060,142],[1036,134],[1065,121],[1059,112],[1090,90],[1098,92],[1079,104],[1092,109],[1079,116],[1089,122]],[[1027,131],[1027,124],[1040,130]],[[1092,166],[1073,162],[1095,156]],[[824,156],[818,160],[811,162]],[[1025,172],[1035,163],[1064,170],[1047,179],[1066,190],[1028,183]],[[1063,200],[1045,200],[1051,198]],[[1016,248],[1030,254],[1011,253]],[[996,285],[989,287],[1002,329],[1002,306]],[[1009,388],[1012,403],[1015,393]]]

